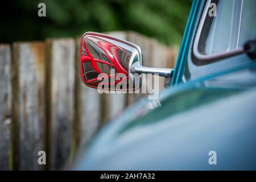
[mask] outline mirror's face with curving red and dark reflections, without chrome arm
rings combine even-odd
[[[80,44],[80,74],[82,81],[90,87],[97,88],[102,78],[108,78],[108,85],[126,81],[131,52],[118,46],[116,40],[88,34],[83,36]],[[113,73],[114,71],[114,73]],[[101,73],[103,76],[98,77]],[[119,79],[115,79],[119,77]]]

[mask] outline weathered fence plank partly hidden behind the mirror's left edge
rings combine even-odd
[[[80,39],[77,41],[76,86],[75,86],[75,120],[74,136],[76,146],[87,143],[100,126],[101,118],[101,94],[96,89],[85,86],[80,78],[79,71],[79,47]]]

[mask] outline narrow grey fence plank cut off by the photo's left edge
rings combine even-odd
[[[9,170],[11,144],[11,48],[0,44],[0,171]]]

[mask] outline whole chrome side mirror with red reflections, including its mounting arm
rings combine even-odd
[[[92,88],[121,90],[139,88],[134,73],[171,77],[173,69],[143,67],[141,48],[125,40],[96,32],[86,32],[80,42],[80,76]],[[104,80],[102,82],[102,80]],[[130,86],[132,85],[132,86]],[[120,87],[118,87],[120,88]]]

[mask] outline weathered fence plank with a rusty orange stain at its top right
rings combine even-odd
[[[13,44],[14,169],[40,170],[44,150],[44,43]]]

